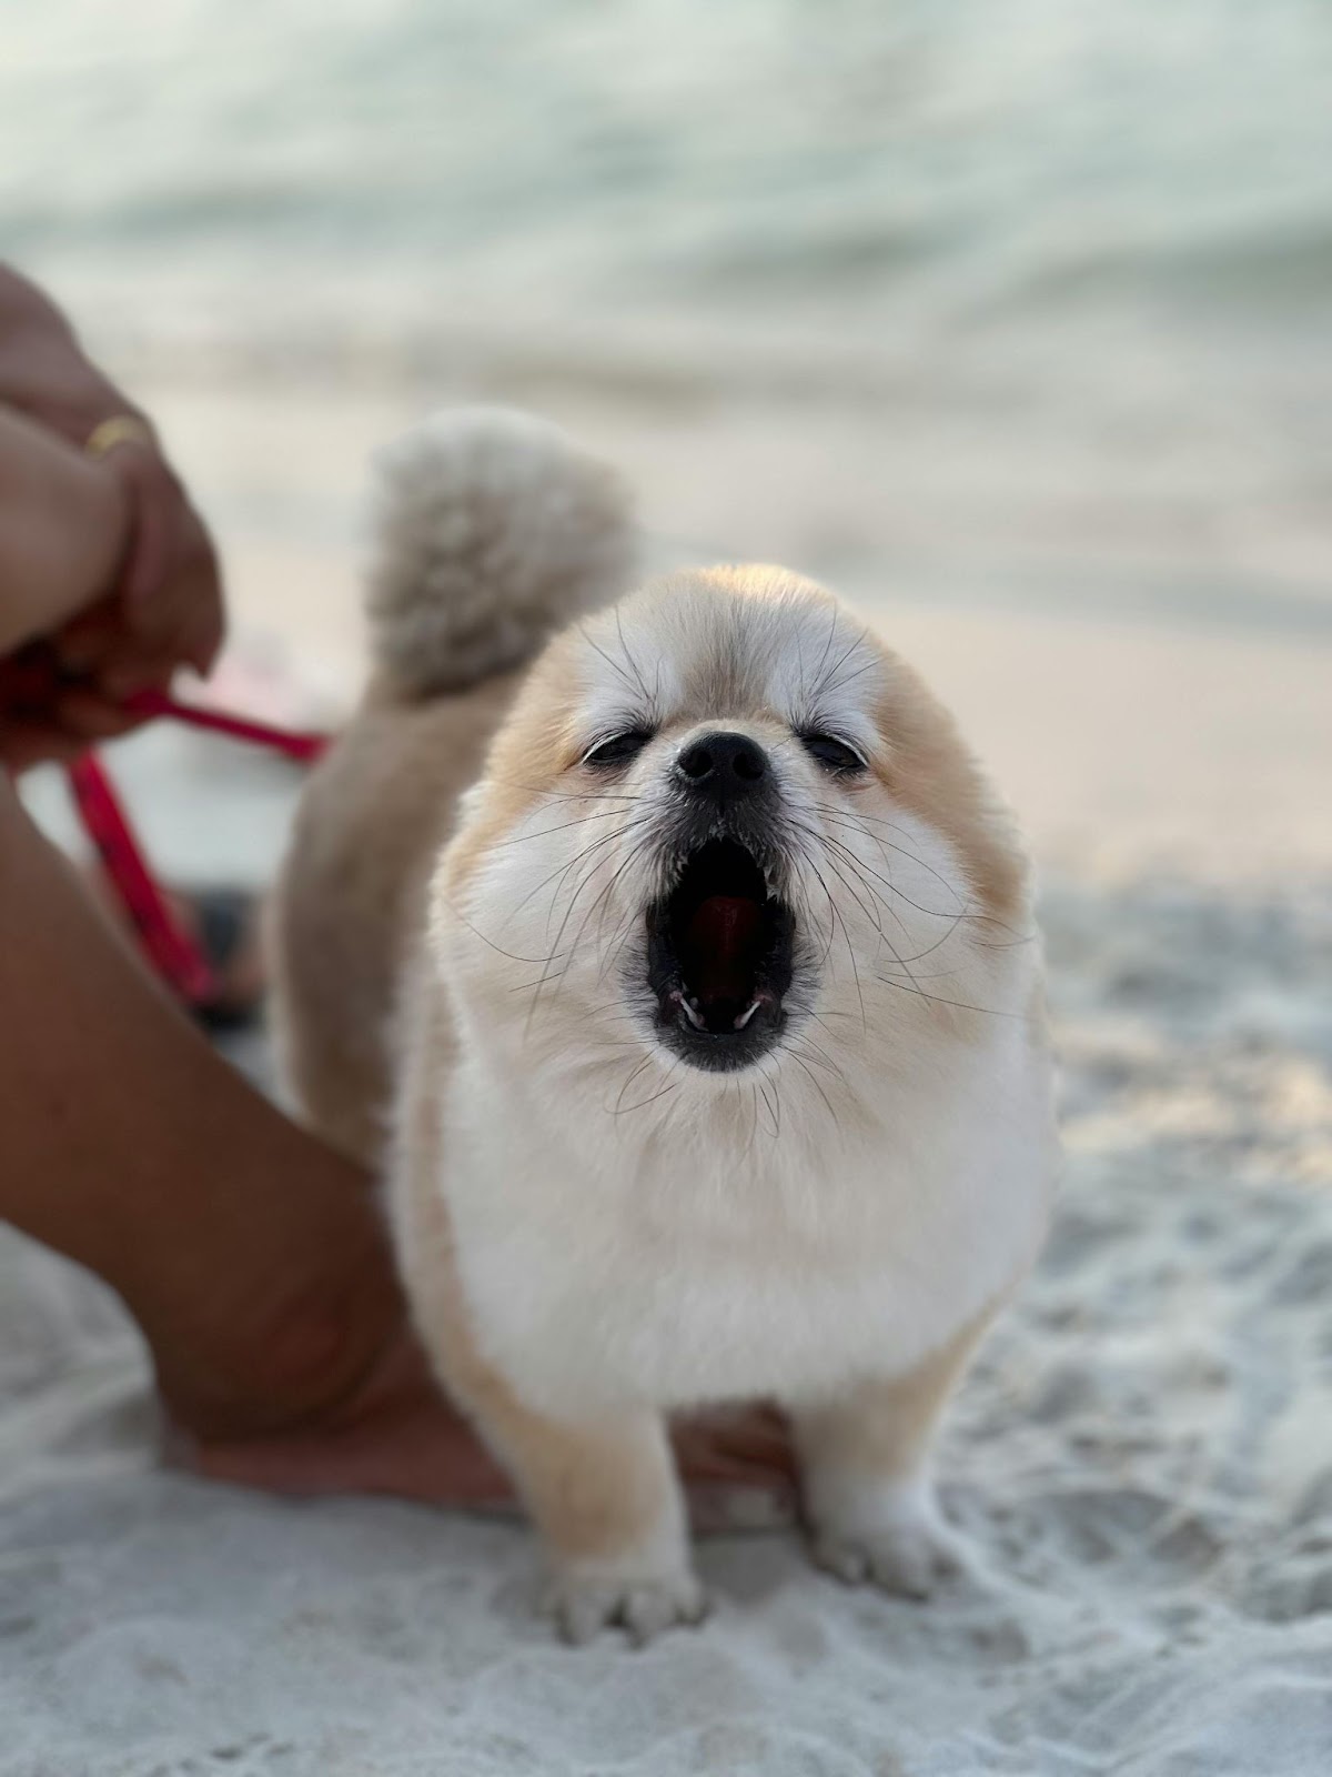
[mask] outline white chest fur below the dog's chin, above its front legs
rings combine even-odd
[[[1046,1061],[1005,1032],[886,1091],[876,1139],[787,1127],[709,1151],[538,1107],[474,1063],[439,1180],[474,1335],[531,1406],[817,1398],[911,1368],[993,1303],[1050,1194]]]

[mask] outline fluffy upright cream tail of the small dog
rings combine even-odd
[[[366,610],[392,697],[416,702],[520,666],[632,585],[625,483],[545,419],[451,409],[391,444],[378,471]]]

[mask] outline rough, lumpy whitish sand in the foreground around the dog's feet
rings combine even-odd
[[[1069,1182],[948,1438],[982,1592],[712,1541],[558,1647],[519,1528],[153,1471],[133,1342],[0,1246],[0,1772],[1243,1773],[1332,1750],[1332,906],[1050,897]]]

